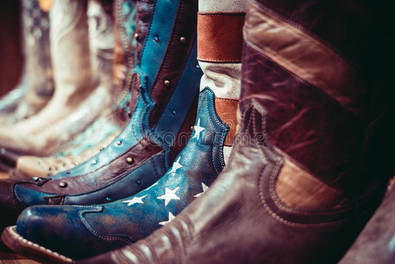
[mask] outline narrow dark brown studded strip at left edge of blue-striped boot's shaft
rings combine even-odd
[[[150,28],[151,18],[154,11],[155,0],[139,0],[136,14],[136,64],[140,64],[140,55],[143,50],[144,41]]]

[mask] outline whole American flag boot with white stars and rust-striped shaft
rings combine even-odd
[[[197,58],[204,74],[200,84],[203,89],[192,137],[170,170],[145,190],[112,203],[26,209],[17,222],[16,232],[51,251],[31,248],[26,242],[29,250],[35,248],[39,255],[44,253],[40,260],[80,259],[134,243],[173,220],[208,190],[225,166],[224,148],[231,148],[236,131],[238,100],[215,96],[216,93],[238,96],[240,92],[245,6],[243,0],[236,3],[216,9],[205,5],[204,12],[197,15]],[[224,34],[231,36],[226,45],[219,41]],[[18,251],[24,251],[25,246],[20,246]]]

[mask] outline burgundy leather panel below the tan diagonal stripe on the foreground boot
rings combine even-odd
[[[356,169],[364,129],[356,116],[248,45],[242,65],[240,110],[251,99],[262,105],[269,143],[332,187],[352,191],[361,184]]]

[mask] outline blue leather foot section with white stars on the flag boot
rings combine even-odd
[[[228,130],[215,111],[213,92],[206,88],[200,92],[190,141],[158,182],[102,205],[29,207],[16,230],[25,239],[75,260],[134,243],[170,222],[209,188],[225,166],[222,147]]]

